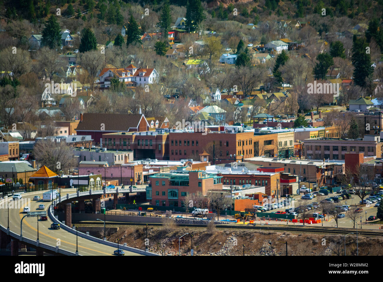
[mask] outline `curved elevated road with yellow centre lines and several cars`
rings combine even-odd
[[[75,189],[64,190],[65,193],[75,193]],[[23,213],[24,207],[27,206],[26,199],[30,199],[31,211],[41,211],[38,208],[39,204],[44,204],[45,210],[47,211],[51,202],[48,201],[33,201],[34,196],[40,196],[43,199],[43,191],[31,192],[21,194],[21,200],[11,200],[9,209],[9,228],[10,231],[20,234],[20,221],[25,213]],[[12,206],[13,204],[13,206]],[[3,208],[0,208],[0,223],[2,226],[7,228],[7,204],[3,204]],[[39,221],[39,240],[41,243],[56,246],[60,243],[60,249],[64,249],[70,252],[76,251],[76,235],[65,231],[64,229],[51,229],[52,221],[41,221],[40,217],[25,217],[23,219],[23,237],[37,240],[37,221]],[[78,236],[78,251],[82,256],[113,256],[115,247],[106,246],[104,244],[98,244],[88,239],[81,238]],[[134,252],[125,251],[127,256],[140,256]]]

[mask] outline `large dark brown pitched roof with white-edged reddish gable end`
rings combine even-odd
[[[100,144],[103,134],[147,131],[149,127],[143,114],[80,114],[76,132],[91,135],[95,144]]]

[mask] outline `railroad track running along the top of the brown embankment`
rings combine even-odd
[[[76,222],[77,224],[94,224],[94,225],[103,225],[102,222],[93,222],[93,221],[79,221]],[[108,224],[108,223],[107,223]],[[111,222],[110,225],[143,225],[143,226],[161,226],[162,223],[135,223],[135,222]],[[177,224],[177,226],[182,227],[205,227],[205,224]],[[270,226],[238,226],[238,225],[228,225],[228,224],[218,224],[216,225],[216,228],[231,228],[231,229],[253,229],[253,230],[268,230],[268,231],[294,231],[294,232],[306,232],[306,233],[327,233],[327,234],[347,234],[351,231],[356,231],[354,228],[350,228],[349,230],[328,230],[326,228],[318,229],[318,228],[302,228],[302,227],[270,227]],[[359,235],[368,235],[368,236],[383,236],[382,232],[375,232],[375,231],[359,231]],[[354,232],[356,234],[356,232]]]

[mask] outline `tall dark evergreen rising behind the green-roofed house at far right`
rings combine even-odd
[[[367,85],[374,68],[371,66],[371,55],[367,52],[368,43],[365,38],[352,38],[352,64],[354,66],[354,82],[360,87]]]

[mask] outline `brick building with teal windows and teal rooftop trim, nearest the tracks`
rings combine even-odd
[[[222,190],[222,176],[201,170],[158,173],[149,177],[146,198],[149,204],[157,206],[184,207],[185,196],[189,194],[207,195],[209,190]]]

